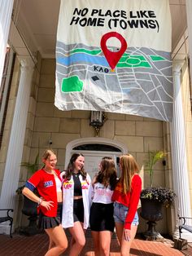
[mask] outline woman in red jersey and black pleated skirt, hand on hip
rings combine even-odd
[[[37,170],[28,179],[23,189],[24,196],[38,203],[39,227],[45,229],[50,237],[50,246],[46,256],[60,255],[68,247],[68,240],[60,224],[62,210],[62,183],[59,170],[55,169],[57,157],[55,152],[47,149],[42,161],[44,167]],[[39,196],[34,194],[37,188]]]

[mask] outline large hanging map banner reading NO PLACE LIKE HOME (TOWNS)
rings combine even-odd
[[[172,120],[168,0],[61,0],[55,106]]]

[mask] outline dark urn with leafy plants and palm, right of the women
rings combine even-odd
[[[164,151],[150,151],[145,164],[146,171],[150,175],[150,187],[142,189],[140,196],[142,211],[140,215],[148,221],[148,229],[144,236],[151,240],[155,240],[159,236],[159,232],[155,230],[155,225],[156,221],[163,218],[163,206],[168,207],[172,204],[176,196],[169,188],[153,187],[154,166],[157,162],[163,161],[166,155],[167,152]]]

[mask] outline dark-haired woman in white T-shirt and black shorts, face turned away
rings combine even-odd
[[[115,223],[111,196],[116,186],[116,166],[111,157],[103,157],[93,182],[93,204],[90,209],[90,229],[95,256],[108,256]]]

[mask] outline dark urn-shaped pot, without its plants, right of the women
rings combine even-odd
[[[145,198],[141,198],[141,203],[142,212],[140,215],[148,221],[148,228],[143,235],[147,240],[156,240],[160,234],[159,232],[156,232],[155,225],[156,221],[159,221],[164,217],[162,213],[163,203]]]

